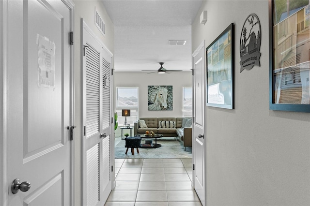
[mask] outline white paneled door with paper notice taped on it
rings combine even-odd
[[[70,6],[7,1],[7,205],[70,205]],[[71,7],[72,8],[72,7]],[[20,190],[14,194],[14,179]],[[16,185],[16,189],[18,189]],[[24,190],[24,192],[23,192]],[[72,203],[71,203],[72,204]]]

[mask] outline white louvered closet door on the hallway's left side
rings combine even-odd
[[[112,190],[111,54],[81,20],[82,204],[103,206]]]

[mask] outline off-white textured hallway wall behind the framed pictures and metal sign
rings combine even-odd
[[[261,67],[240,73],[251,13],[262,27]],[[310,205],[310,114],[269,110],[268,22],[268,0],[207,0],[192,24],[192,51],[235,24],[235,109],[205,109],[208,205]]]

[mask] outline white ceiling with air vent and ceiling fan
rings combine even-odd
[[[116,72],[191,69],[191,24],[202,0],[103,0],[114,24]],[[169,40],[186,40],[169,45]]]

